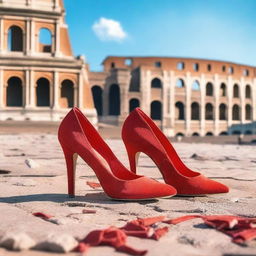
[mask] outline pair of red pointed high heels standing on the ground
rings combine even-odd
[[[79,155],[95,172],[105,193],[118,200],[147,200],[178,195],[226,193],[228,187],[190,170],[169,140],[139,108],[124,122],[122,138],[130,161],[129,171],[114,155],[78,108],[63,119],[58,132],[68,172],[68,193],[75,195],[75,168]],[[147,154],[167,184],[136,175],[137,153]]]

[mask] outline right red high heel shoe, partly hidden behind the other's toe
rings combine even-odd
[[[228,187],[190,170],[181,161],[162,131],[140,108],[133,110],[124,122],[122,138],[131,171],[136,173],[137,153],[147,154],[161,171],[165,182],[179,195],[227,193]]]

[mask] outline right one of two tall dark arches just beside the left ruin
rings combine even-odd
[[[112,84],[109,89],[109,115],[120,115],[120,89],[117,84]]]

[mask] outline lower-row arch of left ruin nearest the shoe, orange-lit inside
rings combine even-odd
[[[74,83],[71,80],[64,80],[61,83],[61,98],[64,108],[74,107]]]

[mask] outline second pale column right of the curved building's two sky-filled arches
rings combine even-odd
[[[219,134],[219,117],[220,117],[220,82],[219,76],[214,75],[214,135]]]

